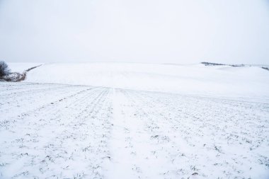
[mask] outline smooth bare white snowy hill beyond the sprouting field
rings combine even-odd
[[[30,71],[26,81],[169,93],[269,97],[269,71],[260,67],[205,67],[202,64],[45,64]]]

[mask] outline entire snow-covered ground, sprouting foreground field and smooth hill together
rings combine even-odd
[[[43,64],[0,82],[0,178],[269,178],[268,82],[259,67]]]

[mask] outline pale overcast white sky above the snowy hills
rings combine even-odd
[[[0,0],[0,59],[269,64],[269,0]]]

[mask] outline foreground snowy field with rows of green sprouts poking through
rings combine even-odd
[[[0,178],[269,176],[269,103],[0,83],[0,116]]]

